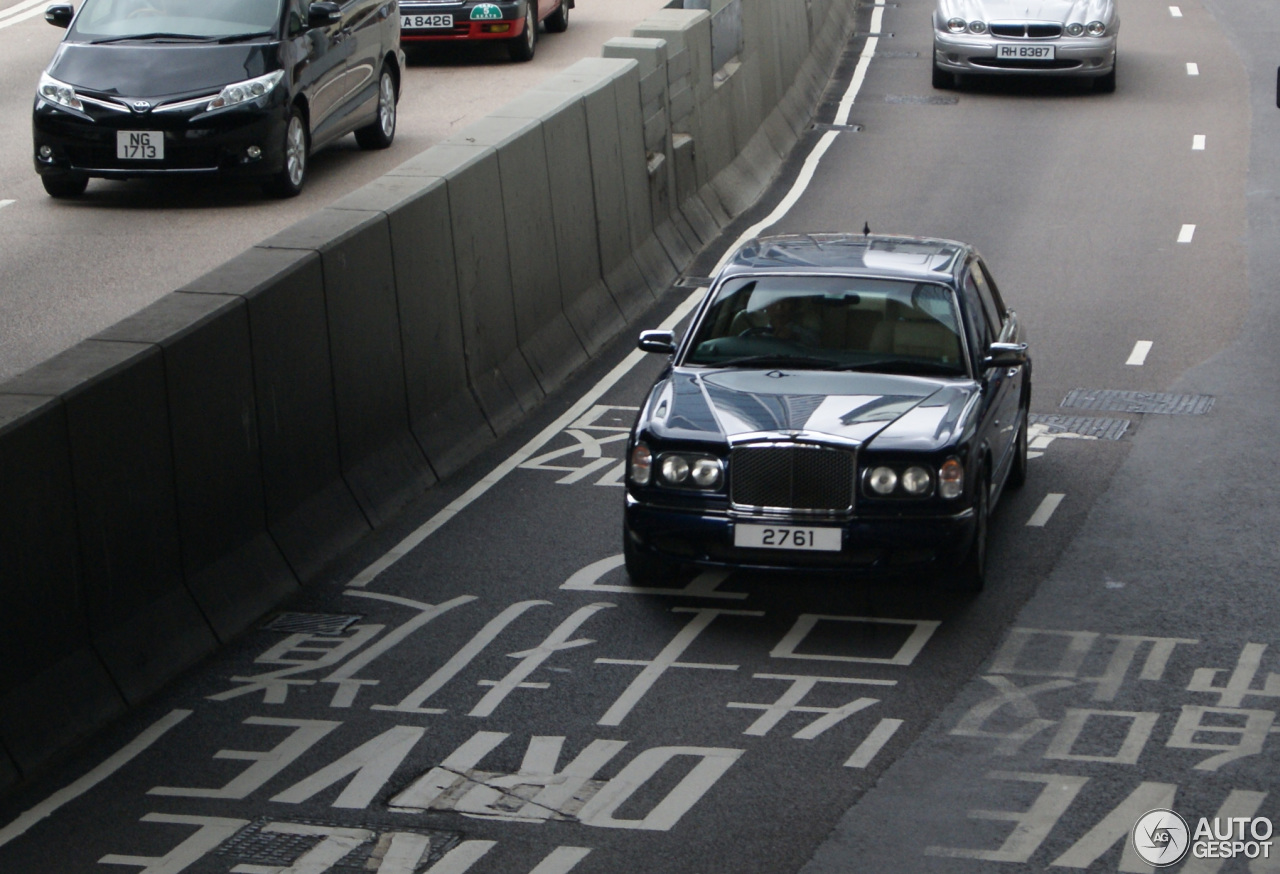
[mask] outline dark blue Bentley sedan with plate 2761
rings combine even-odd
[[[947,239],[754,239],[713,282],[632,429],[623,553],[682,564],[928,572],[982,589],[1027,476],[1030,358],[978,252]]]

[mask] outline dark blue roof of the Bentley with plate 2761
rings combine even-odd
[[[897,234],[780,234],[742,244],[721,273],[827,273],[947,282],[973,248],[954,239]]]

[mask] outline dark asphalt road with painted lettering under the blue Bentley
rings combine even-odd
[[[12,791],[0,870],[1147,871],[1151,809],[1280,818],[1280,22],[1130,4],[1114,95],[934,92],[929,6],[863,14],[823,124],[690,273],[762,223],[983,251],[1036,357],[984,592],[631,589],[622,447],[660,361],[620,343],[310,616]]]

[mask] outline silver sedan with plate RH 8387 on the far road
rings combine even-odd
[[[938,0],[933,87],[961,75],[1073,75],[1116,87],[1115,0]]]

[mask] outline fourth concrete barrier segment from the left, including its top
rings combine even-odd
[[[266,528],[314,580],[370,530],[342,477],[320,256],[251,248],[182,290],[244,301]]]

